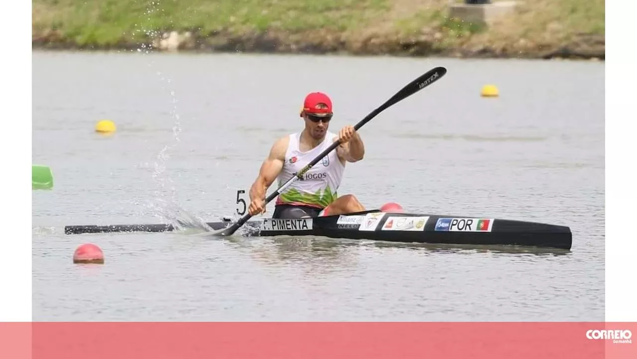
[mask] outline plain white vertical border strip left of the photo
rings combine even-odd
[[[0,321],[31,321],[31,3],[3,11]]]

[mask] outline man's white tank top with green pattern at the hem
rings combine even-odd
[[[301,152],[299,150],[301,133],[290,134],[283,170],[277,177],[278,186],[283,186],[294,173],[301,171],[311,160],[332,145],[334,137],[336,137],[334,133],[327,132],[325,140],[320,145],[307,152]],[[341,186],[344,170],[345,165],[341,163],[334,149],[310,168],[303,175],[303,179],[297,179],[285,188],[276,198],[276,204],[309,205],[323,209],[336,200],[336,191]]]

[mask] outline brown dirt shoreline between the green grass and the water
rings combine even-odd
[[[598,59],[605,60],[605,36],[581,34],[565,43],[532,43],[527,40],[515,43],[490,43],[471,41],[457,45],[443,45],[440,33],[418,34],[415,37],[391,34],[345,36],[341,33],[312,31],[290,34],[266,31],[245,33],[217,31],[210,34],[196,32],[164,33],[146,42],[121,40],[114,45],[86,44],[64,38],[56,31],[33,34],[32,48],[38,50],[144,50],[158,52],[216,52],[262,54],[347,54],[394,55],[415,57],[457,58],[518,58],[518,59]]]

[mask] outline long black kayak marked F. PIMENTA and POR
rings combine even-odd
[[[230,226],[230,219],[208,223],[213,230]],[[238,235],[248,237],[323,236],[390,242],[469,245],[525,245],[571,249],[568,226],[480,217],[393,213],[370,210],[347,215],[302,219],[248,221]],[[66,226],[66,234],[173,231],[171,224],[111,224]]]

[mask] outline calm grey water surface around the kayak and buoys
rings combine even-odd
[[[565,224],[571,251],[63,233],[238,217],[306,92],[333,96],[338,131],[434,66],[445,78],[361,129],[340,193]],[[603,62],[34,52],[33,162],[55,175],[32,196],[34,320],[603,321],[604,77]],[[72,263],[86,242],[106,264]]]

